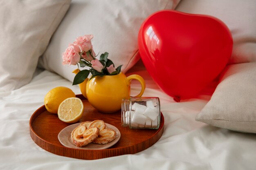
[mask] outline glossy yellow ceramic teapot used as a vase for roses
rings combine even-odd
[[[73,71],[77,74],[79,69]],[[145,90],[145,81],[139,75],[126,75],[120,72],[118,75],[96,76],[79,84],[81,93],[89,103],[97,110],[105,113],[113,113],[121,109],[122,99],[130,97],[130,84],[136,79],[141,84],[141,92],[135,97],[141,97]]]

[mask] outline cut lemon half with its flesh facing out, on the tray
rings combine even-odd
[[[75,123],[83,116],[83,102],[77,97],[70,97],[58,107],[58,118],[66,123]]]

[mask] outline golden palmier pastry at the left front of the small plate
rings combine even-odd
[[[91,143],[98,135],[97,127],[87,129],[86,126],[80,125],[71,132],[71,141],[75,146],[81,147]]]

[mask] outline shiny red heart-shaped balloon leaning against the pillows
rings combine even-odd
[[[148,73],[179,102],[195,97],[219,75],[231,56],[233,40],[217,18],[164,10],[144,21],[138,44]]]

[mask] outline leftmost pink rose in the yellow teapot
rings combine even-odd
[[[80,61],[80,55],[76,53],[74,47],[70,44],[66,51],[62,54],[63,65],[68,64],[69,66],[76,65]]]

